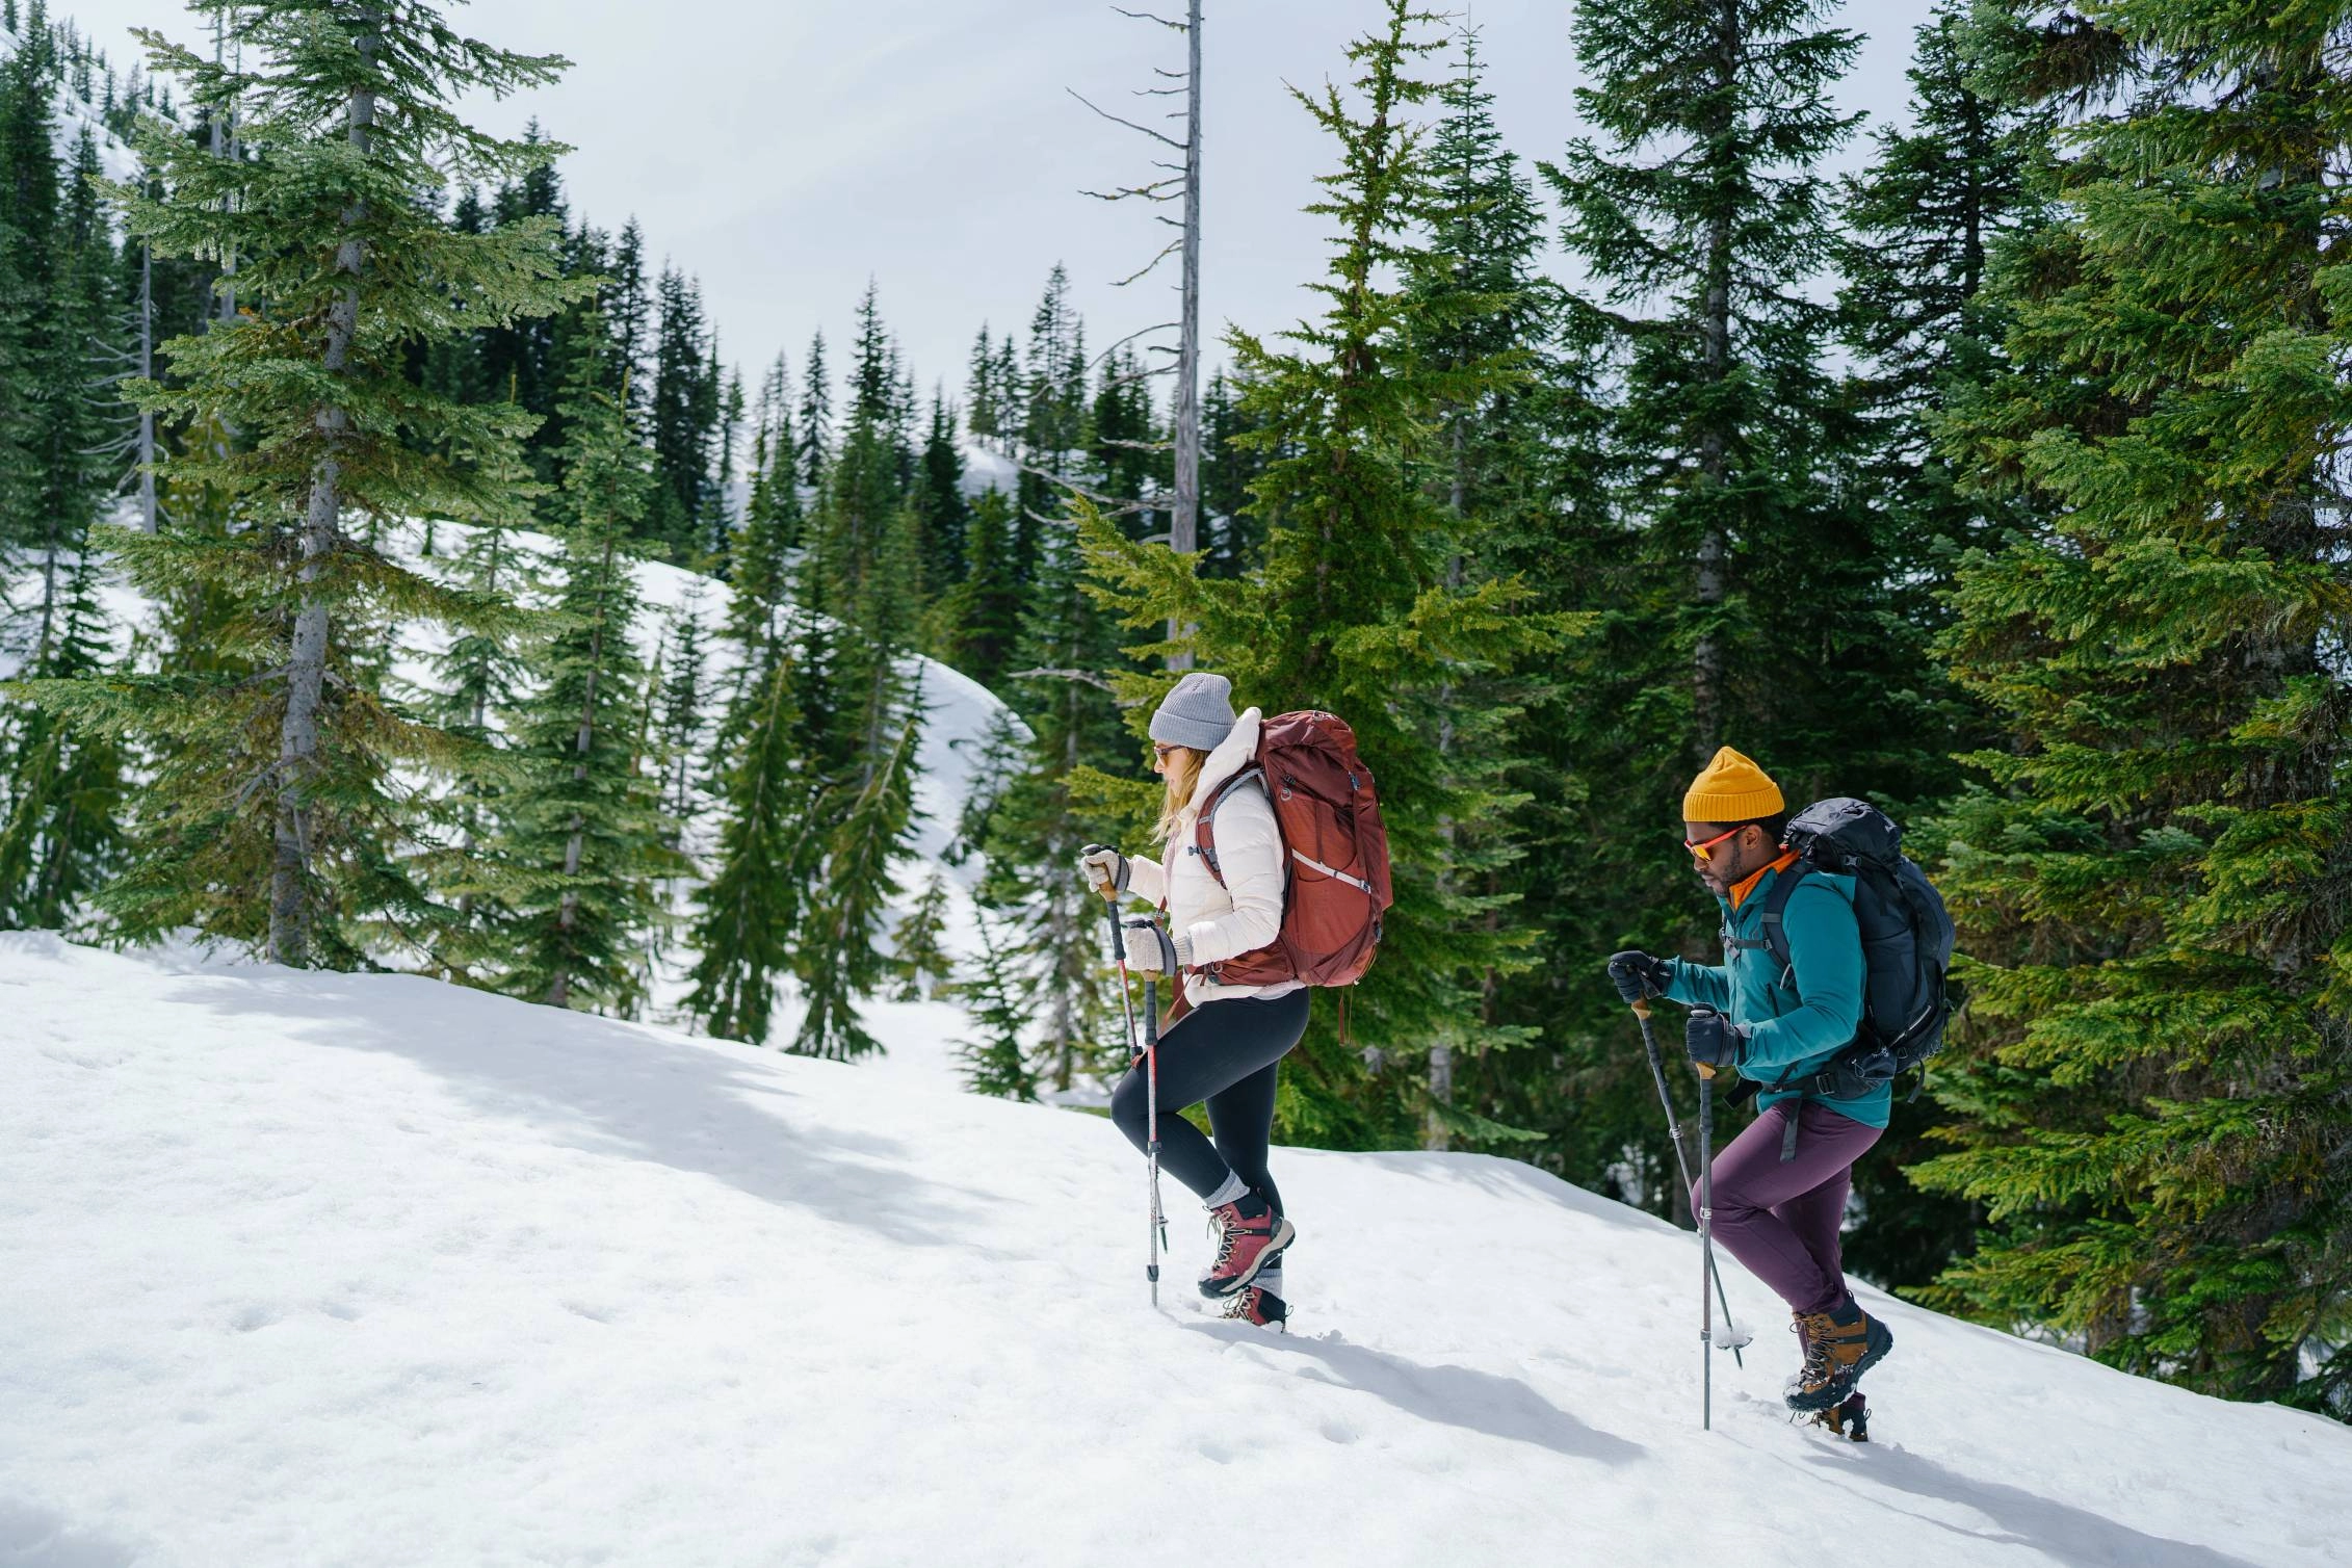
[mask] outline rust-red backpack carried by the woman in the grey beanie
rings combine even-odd
[[[1355,985],[1381,945],[1388,889],[1388,830],[1371,769],[1355,755],[1355,731],[1338,715],[1284,712],[1258,726],[1258,757],[1202,802],[1192,839],[1218,886],[1216,809],[1258,780],[1282,835],[1282,931],[1270,947],[1204,964],[1218,985]]]

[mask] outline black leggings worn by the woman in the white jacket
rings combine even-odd
[[[1275,1213],[1282,1194],[1265,1173],[1275,1133],[1275,1070],[1308,1032],[1308,992],[1204,1001],[1160,1037],[1160,1164],[1207,1199],[1240,1175]],[[1110,1091],[1110,1119],[1138,1150],[1150,1147],[1143,1065],[1127,1070]],[[1216,1143],[1178,1112],[1209,1105]]]

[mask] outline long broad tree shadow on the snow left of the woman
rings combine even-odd
[[[971,1248],[974,1201],[988,1201],[913,1175],[913,1152],[894,1138],[793,1117],[795,1091],[748,1046],[739,1056],[419,976],[254,976],[228,994],[198,985],[174,999],[294,1020],[322,1046],[402,1056],[564,1147],[713,1175],[908,1246]]]

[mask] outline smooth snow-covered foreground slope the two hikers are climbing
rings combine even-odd
[[[0,1018],[12,1568],[2284,1568],[2352,1540],[2345,1427],[1877,1298],[1877,1443],[1788,1427],[1745,1276],[1757,1345],[1700,1434],[1691,1239],[1505,1161],[1282,1154],[1277,1338],[1190,1300],[1181,1194],[1145,1307],[1108,1124],[931,1074],[47,936],[0,938]]]

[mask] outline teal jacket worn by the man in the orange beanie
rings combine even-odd
[[[1792,867],[1795,870],[1795,867]],[[1853,1044],[1863,1025],[1863,933],[1853,924],[1853,877],[1811,872],[1788,896],[1780,931],[1788,936],[1790,973],[1764,945],[1764,898],[1773,882],[1792,872],[1764,872],[1733,910],[1724,907],[1724,936],[1755,947],[1729,947],[1722,964],[1672,959],[1675,980],[1668,999],[1705,1004],[1748,1025],[1748,1048],[1740,1053],[1740,1077],[1764,1084],[1757,1107],[1780,1100],[1818,1100],[1865,1126],[1886,1126],[1893,1088],[1879,1086],[1856,1100],[1771,1084],[1783,1074],[1806,1079]]]

